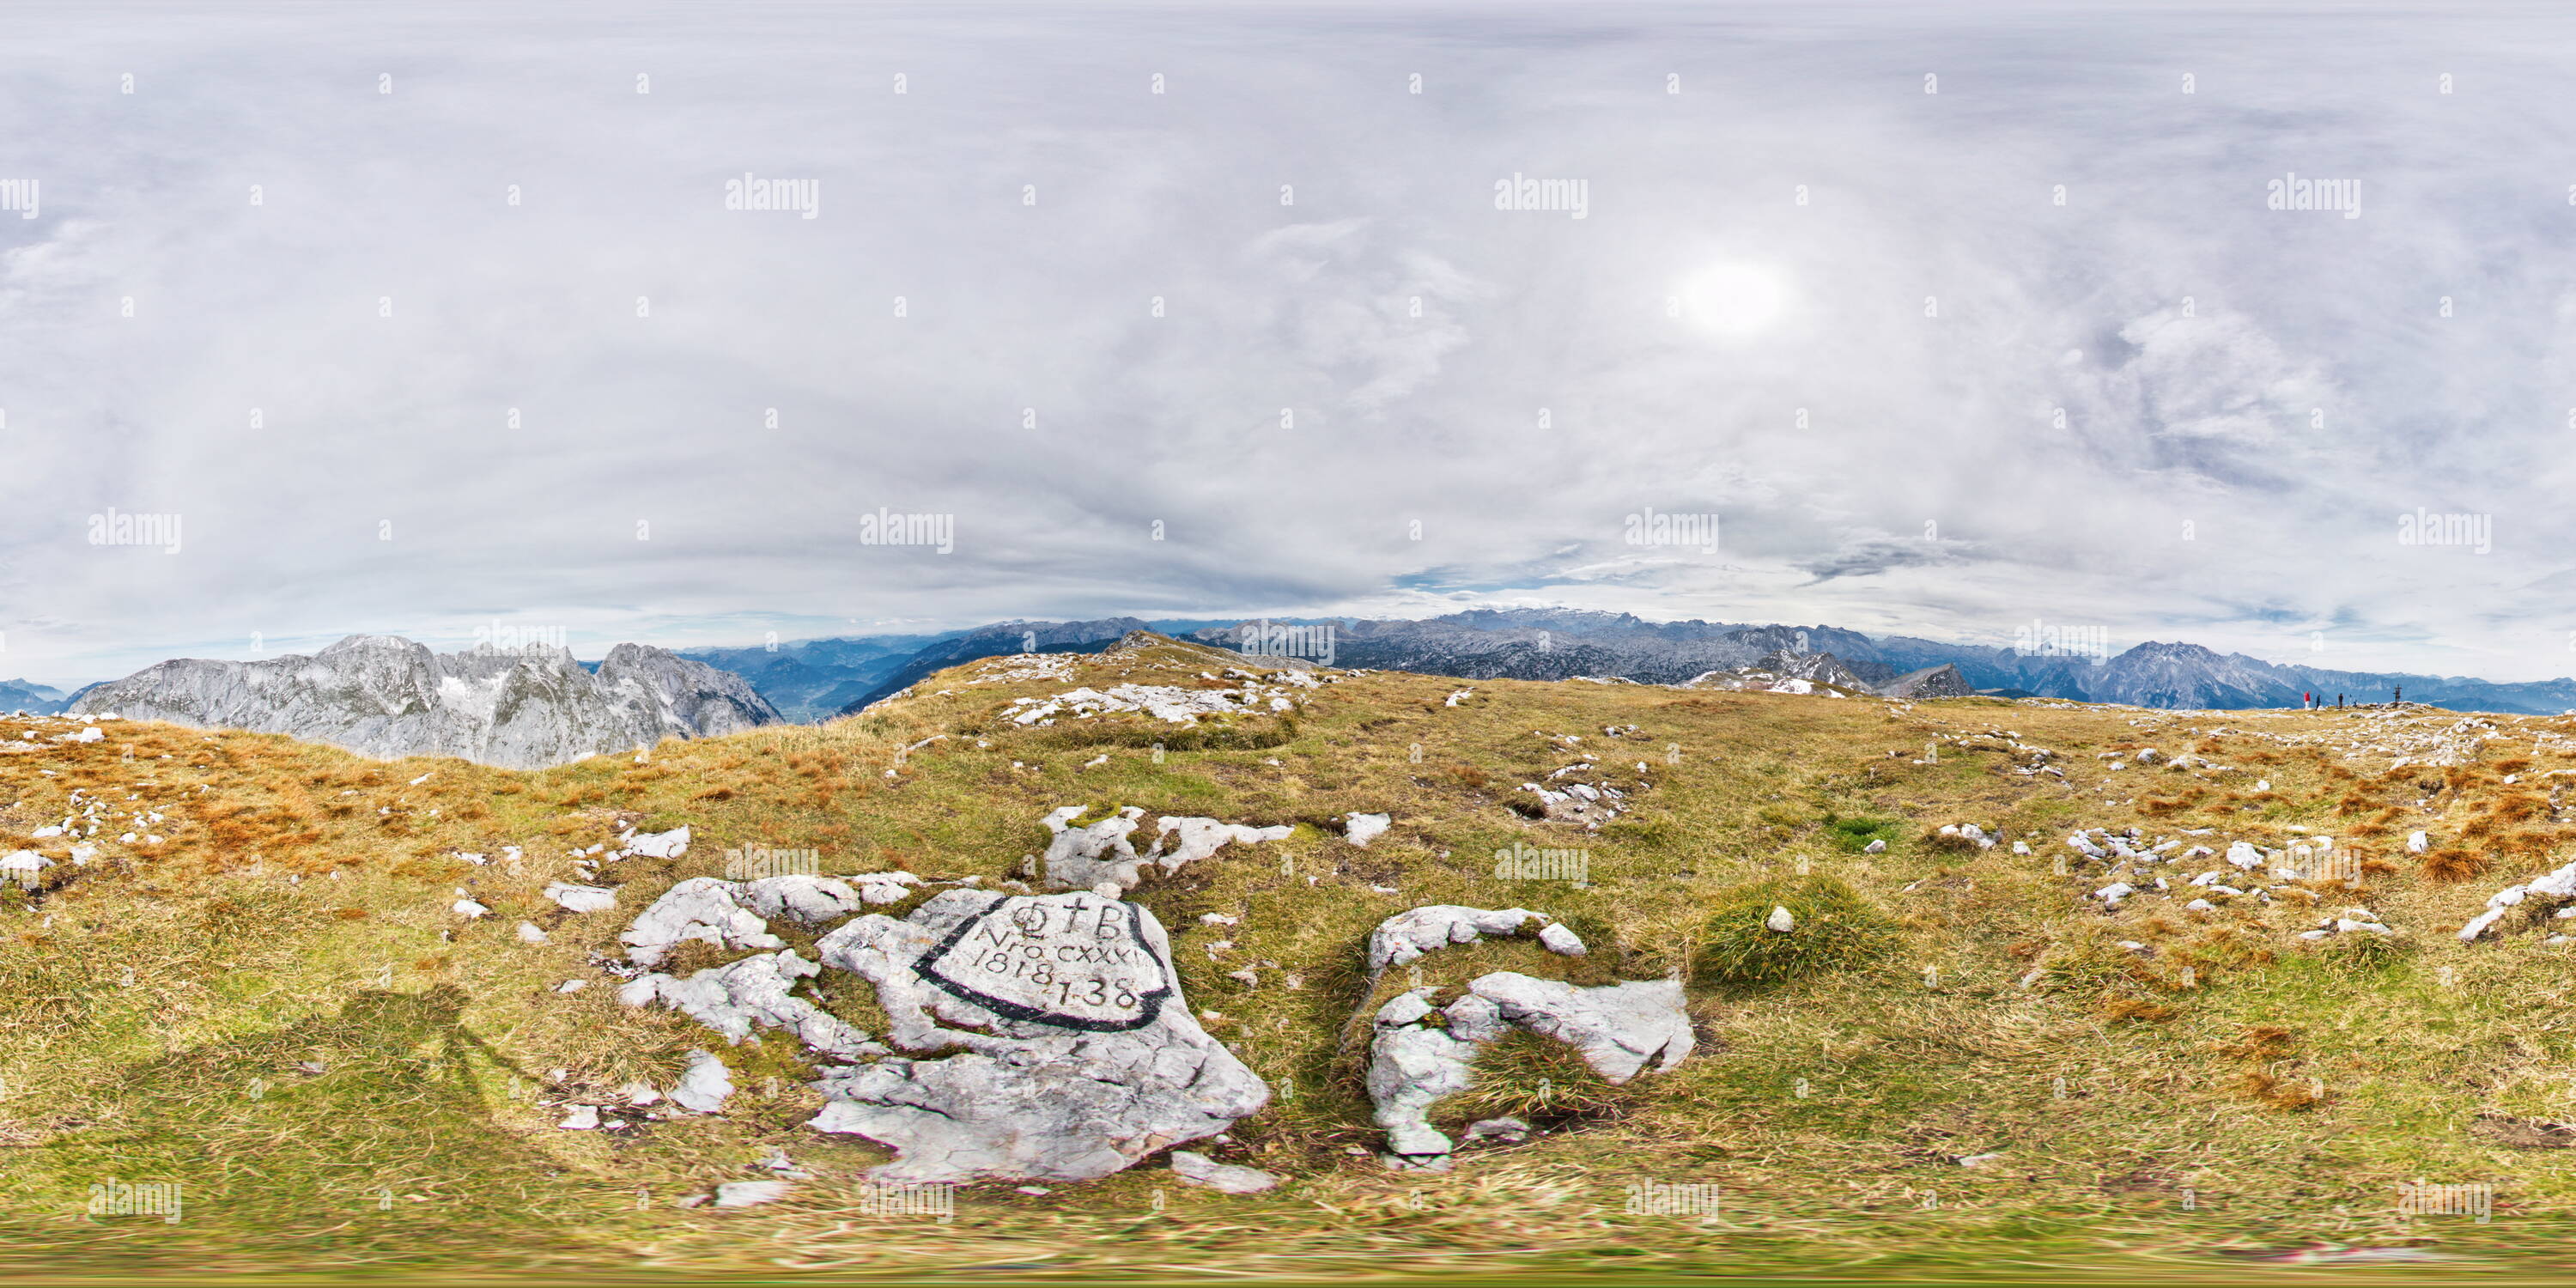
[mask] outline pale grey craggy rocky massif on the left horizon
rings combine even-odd
[[[312,657],[160,662],[82,688],[67,711],[294,734],[381,757],[456,755],[515,770],[783,721],[739,675],[644,644],[618,644],[585,667],[569,649],[433,654],[397,636],[348,636]]]

